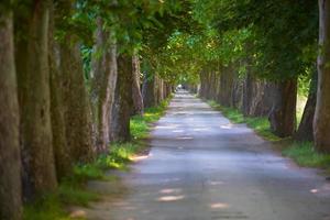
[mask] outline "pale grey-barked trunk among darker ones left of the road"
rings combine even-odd
[[[94,81],[91,100],[97,128],[96,145],[98,152],[103,153],[107,152],[110,142],[110,120],[117,82],[117,46],[113,33],[107,33],[103,30],[101,19],[98,19],[97,22],[97,44],[92,59]]]

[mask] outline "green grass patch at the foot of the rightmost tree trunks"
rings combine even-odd
[[[294,142],[283,151],[283,155],[292,157],[300,166],[330,169],[330,155],[318,153],[311,142]]]

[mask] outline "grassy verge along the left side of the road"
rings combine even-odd
[[[127,169],[132,157],[144,152],[143,140],[148,136],[152,123],[160,120],[165,113],[169,99],[164,100],[158,107],[145,109],[144,116],[132,117],[131,142],[111,144],[109,154],[99,156],[94,163],[76,165],[72,176],[61,182],[57,191],[44,195],[33,204],[24,206],[23,219],[70,220],[72,218],[68,217],[65,207],[87,207],[89,201],[99,200],[101,195],[88,190],[86,188],[87,182],[94,179],[113,180],[116,177],[107,176],[106,170]]]

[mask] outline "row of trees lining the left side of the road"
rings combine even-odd
[[[21,219],[22,201],[56,190],[110,142],[130,141],[130,117],[173,90],[151,59],[187,9],[185,1],[0,2],[0,219]]]

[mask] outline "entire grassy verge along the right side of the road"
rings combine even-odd
[[[207,100],[207,103],[221,111],[232,123],[246,123],[249,128],[267,141],[278,142],[283,140],[272,133],[270,122],[265,117],[244,117],[238,109],[221,107],[212,100]],[[280,145],[283,145],[280,147],[282,155],[290,157],[299,166],[322,168],[330,173],[330,155],[318,153],[314,148],[312,142],[297,142],[289,139]]]

